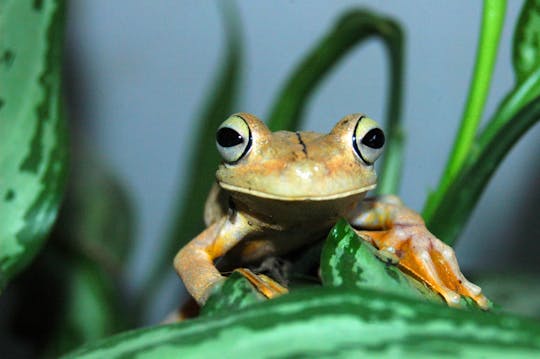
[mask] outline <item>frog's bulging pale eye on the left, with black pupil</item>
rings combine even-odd
[[[216,147],[227,163],[244,157],[251,148],[251,131],[246,121],[239,116],[226,119],[216,132]]]

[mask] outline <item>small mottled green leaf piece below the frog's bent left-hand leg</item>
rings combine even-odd
[[[201,308],[201,316],[227,313],[245,308],[266,298],[238,272],[233,272],[225,282],[215,288]]]

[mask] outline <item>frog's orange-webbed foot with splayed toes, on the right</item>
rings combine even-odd
[[[386,231],[356,231],[381,252],[398,258],[398,266],[439,293],[450,306],[460,296],[473,299],[483,309],[488,300],[477,285],[461,273],[454,250],[433,236],[424,225],[395,225]]]

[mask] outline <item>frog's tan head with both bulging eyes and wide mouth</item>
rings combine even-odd
[[[223,158],[219,185],[234,192],[282,201],[321,201],[375,188],[373,163],[384,133],[372,119],[353,114],[323,135],[272,133],[254,115],[232,115],[219,127],[216,145]]]

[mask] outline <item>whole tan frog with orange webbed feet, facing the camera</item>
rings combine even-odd
[[[374,164],[384,145],[381,126],[361,113],[343,117],[327,134],[272,132],[249,113],[228,117],[216,132],[222,162],[205,204],[206,229],[174,258],[189,294],[206,302],[226,279],[216,266],[225,257],[267,298],[287,293],[245,266],[299,250],[345,218],[381,258],[449,306],[463,296],[487,309],[481,288],[465,278],[454,250],[420,214],[395,195],[366,196],[377,185]]]

